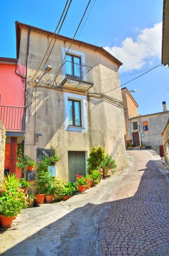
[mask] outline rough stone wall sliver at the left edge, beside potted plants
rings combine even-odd
[[[0,184],[3,181],[4,174],[4,162],[5,162],[5,141],[6,141],[6,129],[0,120]]]

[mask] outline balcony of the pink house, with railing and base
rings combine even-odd
[[[17,137],[21,143],[25,135],[26,108],[14,106],[0,106],[0,119],[6,128],[6,143],[11,137]]]

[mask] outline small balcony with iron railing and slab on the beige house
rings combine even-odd
[[[62,66],[62,86],[85,91],[89,90],[93,87],[93,68],[65,61]]]

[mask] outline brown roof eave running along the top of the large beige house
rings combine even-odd
[[[49,32],[46,31],[44,29],[40,29],[37,28],[35,26],[31,26],[28,24],[24,24],[24,23],[20,23],[19,21],[15,21],[15,27],[16,27],[16,40],[17,40],[17,58],[19,58],[19,49],[20,49],[20,35],[21,35],[21,28],[23,29],[29,29],[31,28],[31,31],[43,34],[43,35],[48,35],[48,36],[52,36],[54,33],[53,32]],[[57,35],[57,34],[55,34]],[[72,38],[68,38],[64,35],[59,35],[58,39],[62,40],[62,41],[67,41],[67,42],[71,42]],[[74,39],[73,40],[73,44],[77,44],[79,46],[83,46],[83,47],[87,47],[90,49],[93,49],[95,51],[101,52],[104,56],[106,56],[107,58],[109,58],[110,60],[112,60],[113,62],[118,64],[118,67],[120,67],[121,65],[123,65],[123,63],[121,61],[119,61],[117,58],[115,58],[113,55],[111,55],[109,52],[107,52],[103,47],[99,47],[93,44],[88,44],[86,42],[83,41],[79,41]]]

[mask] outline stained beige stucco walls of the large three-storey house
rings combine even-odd
[[[26,63],[27,38],[28,31],[22,29],[19,58],[23,65]],[[105,148],[105,151],[116,159],[118,169],[124,168],[126,165],[126,153],[124,143],[125,123],[122,107],[95,96],[86,96],[88,131],[70,132],[65,131],[64,90],[58,91],[54,88],[36,87],[31,105],[31,93],[34,86],[31,85],[30,81],[42,60],[48,44],[49,38],[47,36],[31,32],[25,154],[36,160],[37,148],[50,148],[51,145],[54,145],[59,156],[61,156],[61,159],[56,165],[57,178],[62,180],[68,180],[68,151],[86,151],[87,156],[94,145]],[[69,45],[67,42],[56,40],[47,63],[52,66],[52,72],[46,75],[46,79],[55,75],[59,70],[62,63],[62,47],[68,48]],[[97,82],[94,82],[93,88],[89,90],[90,92],[103,93],[120,85],[119,78],[104,80],[119,76],[117,64],[94,50],[77,45],[72,45],[72,47],[77,52],[85,53],[85,64],[93,67],[93,80]],[[35,79],[37,76],[35,76]],[[44,81],[42,79],[41,83]],[[62,74],[60,72],[55,86],[61,86],[61,81]],[[67,92],[72,93],[72,91],[68,90]],[[73,91],[73,93],[77,94],[76,91]],[[84,92],[82,94],[86,95]],[[120,88],[113,90],[108,95],[122,101]],[[38,141],[34,142],[36,133],[42,134],[42,137],[39,137]]]

